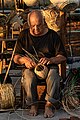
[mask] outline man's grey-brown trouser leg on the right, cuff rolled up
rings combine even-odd
[[[58,69],[50,69],[47,79],[47,93],[45,100],[52,103],[56,102],[60,98],[60,76]]]

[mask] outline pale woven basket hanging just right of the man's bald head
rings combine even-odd
[[[58,32],[60,30],[60,13],[56,8],[47,8],[42,10],[48,28]]]

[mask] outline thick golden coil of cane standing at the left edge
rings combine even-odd
[[[14,107],[15,96],[12,84],[0,84],[0,109]]]

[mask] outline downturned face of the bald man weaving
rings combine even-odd
[[[39,36],[43,33],[43,22],[37,17],[30,18],[30,33],[34,36]]]

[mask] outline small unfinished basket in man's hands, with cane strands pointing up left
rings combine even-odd
[[[27,55],[34,61],[36,61],[38,64],[36,65],[36,67],[34,68],[34,72],[35,74],[37,75],[37,77],[39,79],[45,79],[47,74],[48,74],[48,68],[47,66],[39,63],[39,60],[34,56],[32,55],[31,53],[29,53],[27,50],[25,50],[24,48],[22,48],[26,53]]]

